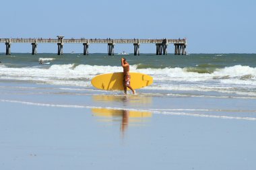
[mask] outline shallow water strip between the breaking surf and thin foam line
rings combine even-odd
[[[156,95],[146,91],[141,92],[137,95],[125,95],[123,91],[101,91],[26,81],[0,83],[1,102],[53,108],[106,108],[117,111],[128,110],[205,118],[237,120],[255,120],[256,118],[255,97]]]

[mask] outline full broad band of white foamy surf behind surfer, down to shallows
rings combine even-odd
[[[172,91],[218,91],[220,93],[236,93],[253,95],[256,85],[256,68],[236,65],[217,69],[213,73],[187,72],[183,68],[136,69],[131,72],[146,73],[154,78],[154,83],[147,89]],[[76,85],[92,87],[90,80],[102,73],[122,72],[122,67],[97,65],[52,65],[45,68],[7,68],[1,65],[0,79],[24,81],[42,81],[55,85]],[[239,91],[243,89],[243,91]],[[249,89],[248,91],[246,89]]]

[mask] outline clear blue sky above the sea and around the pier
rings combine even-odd
[[[1,1],[0,38],[187,38],[189,53],[256,53],[255,7],[255,0],[9,0]],[[11,52],[31,50],[30,44],[11,46]],[[122,50],[132,52],[133,45],[115,46],[115,52]],[[89,51],[107,52],[107,46],[92,44]],[[38,52],[57,52],[57,45],[38,44]]]

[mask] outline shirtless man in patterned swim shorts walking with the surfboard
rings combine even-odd
[[[121,65],[123,67],[123,89],[125,90],[125,94],[127,94],[127,87],[133,91],[135,94],[135,90],[130,85],[131,75],[129,74],[130,65],[125,58],[121,58]]]

